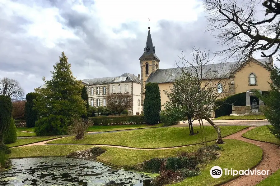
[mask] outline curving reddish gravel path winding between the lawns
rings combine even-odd
[[[280,147],[275,144],[255,141],[251,139],[246,139],[242,137],[242,134],[244,134],[247,131],[250,131],[254,129],[255,126],[251,126],[249,128],[246,128],[242,131],[236,132],[235,134],[229,135],[227,137],[224,137],[223,139],[238,139],[241,141],[245,141],[251,144],[255,144],[259,146],[263,150],[263,158],[262,161],[255,166],[257,170],[270,170],[269,175],[276,170],[280,169]],[[136,129],[134,129],[136,130]],[[112,132],[112,131],[111,131]],[[66,137],[66,136],[65,136]],[[65,138],[61,137],[61,138]],[[56,139],[61,139],[56,138]],[[35,145],[69,145],[69,144],[46,144],[47,142],[54,141],[56,139],[51,139],[43,142],[33,143],[33,144],[27,144],[22,145],[20,147],[25,146],[35,146]],[[72,145],[72,144],[71,144]],[[81,145],[81,144],[73,144],[73,145]],[[125,149],[133,149],[133,150],[158,150],[158,149],[172,149],[172,148],[180,148],[180,147],[186,147],[186,146],[192,146],[192,145],[185,145],[180,147],[168,147],[168,148],[131,148],[131,147],[124,147],[124,146],[115,146],[115,145],[94,145],[94,144],[88,144],[91,146],[103,146],[103,147],[115,147],[115,148],[125,148]],[[16,147],[14,147],[16,148]],[[238,151],[238,149],[236,149]],[[233,179],[225,184],[222,184],[222,186],[254,186],[255,184],[258,184],[261,180],[265,179],[266,175],[243,175],[236,179]]]

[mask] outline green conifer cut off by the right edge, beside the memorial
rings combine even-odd
[[[277,58],[278,61],[280,61]],[[265,117],[271,123],[270,131],[276,138],[280,139],[280,69],[278,67],[269,68],[272,83],[269,83],[270,90],[268,95],[261,96],[266,104],[263,110]]]

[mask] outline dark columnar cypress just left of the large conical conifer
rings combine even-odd
[[[38,97],[38,93],[30,92],[26,94],[26,103],[25,103],[25,121],[27,127],[34,127],[35,122],[37,121],[38,111],[34,110],[34,100]]]

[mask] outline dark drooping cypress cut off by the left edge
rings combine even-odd
[[[0,95],[0,146],[4,144],[3,137],[7,132],[12,117],[12,100],[9,96]]]

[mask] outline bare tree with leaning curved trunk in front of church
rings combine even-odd
[[[181,80],[188,79],[187,85],[185,82],[183,85],[188,86],[177,92],[177,100],[188,107],[191,110],[194,119],[205,119],[208,121],[217,131],[217,143],[223,143],[220,128],[211,120],[209,116],[211,112],[219,107],[216,100],[222,98],[229,93],[230,79],[228,77],[228,71],[224,70],[225,63],[214,64],[214,57],[210,57],[210,51],[200,51],[193,48],[191,53],[192,60],[186,59],[182,52],[182,67],[179,62],[176,62],[176,66],[180,71],[180,76],[184,77]],[[180,80],[180,79],[179,79]],[[176,87],[174,87],[176,88]]]

